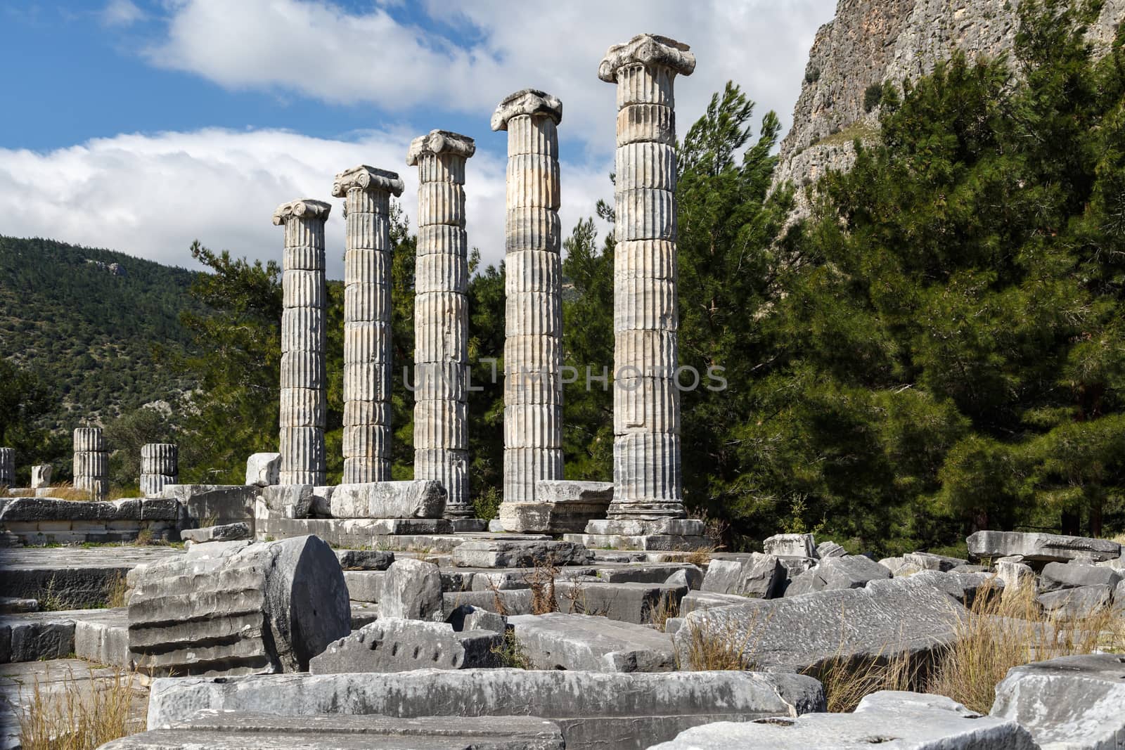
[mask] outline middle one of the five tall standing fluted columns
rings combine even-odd
[[[448,493],[446,517],[471,518],[469,505],[468,283],[465,162],[468,136],[431,130],[414,138],[406,163],[418,168],[414,266],[414,478]]]

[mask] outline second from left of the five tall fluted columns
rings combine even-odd
[[[354,166],[336,175],[344,199],[344,476],[390,479],[390,196],[395,172]]]

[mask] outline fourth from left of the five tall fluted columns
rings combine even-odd
[[[492,117],[507,130],[504,503],[562,478],[562,256],[556,126],[562,103],[524,89]]]

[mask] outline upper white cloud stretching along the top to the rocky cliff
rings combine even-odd
[[[631,0],[449,3],[429,0],[426,28],[382,7],[349,12],[324,0],[177,0],[156,65],[231,89],[295,92],[334,103],[466,112],[486,127],[507,93],[541,88],[564,102],[562,138],[604,154],[613,143],[612,89],[597,80],[605,49],[641,30],[693,46],[699,66],[678,83],[681,135],[727,80],[789,121],[807,54],[830,0]],[[436,29],[436,30],[435,30]],[[450,43],[443,34],[472,39]]]

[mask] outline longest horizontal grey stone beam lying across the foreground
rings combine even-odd
[[[539,716],[568,750],[647,748],[690,726],[822,711],[824,690],[802,675],[749,671],[580,672],[420,669],[389,675],[269,675],[158,679],[148,729],[200,708],[281,716]]]

